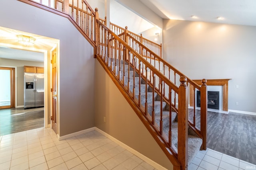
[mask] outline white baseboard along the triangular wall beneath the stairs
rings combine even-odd
[[[108,137],[110,140],[114,141],[115,143],[117,143],[118,145],[120,145],[121,147],[123,147],[124,149],[128,150],[129,152],[131,152],[132,154],[138,156],[140,159],[144,160],[145,162],[147,162],[148,164],[150,164],[151,166],[155,167],[156,169],[159,170],[167,170],[166,168],[164,168],[163,166],[161,166],[160,164],[154,162],[153,160],[151,160],[150,158],[144,156],[143,154],[141,154],[140,152],[138,152],[137,150],[132,149],[131,147],[129,147],[128,145],[122,143],[121,141],[118,141],[116,138],[108,135],[108,133],[98,129],[97,127],[95,127],[95,130],[98,131],[99,133],[101,133],[102,135]]]

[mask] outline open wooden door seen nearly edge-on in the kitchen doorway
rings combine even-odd
[[[57,50],[56,48],[52,51],[51,56],[51,127],[54,132],[57,134]]]

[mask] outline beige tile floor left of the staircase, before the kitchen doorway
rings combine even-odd
[[[51,128],[0,136],[0,170],[156,170],[101,133],[58,141]]]

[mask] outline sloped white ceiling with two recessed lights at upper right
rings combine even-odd
[[[140,1],[163,19],[256,26],[256,0]],[[219,16],[223,17],[223,20],[217,20]]]

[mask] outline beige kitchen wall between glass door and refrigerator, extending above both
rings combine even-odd
[[[24,66],[39,66],[44,67],[42,62],[23,61],[1,59],[0,66],[17,67],[16,85],[17,85],[17,106],[24,106]]]

